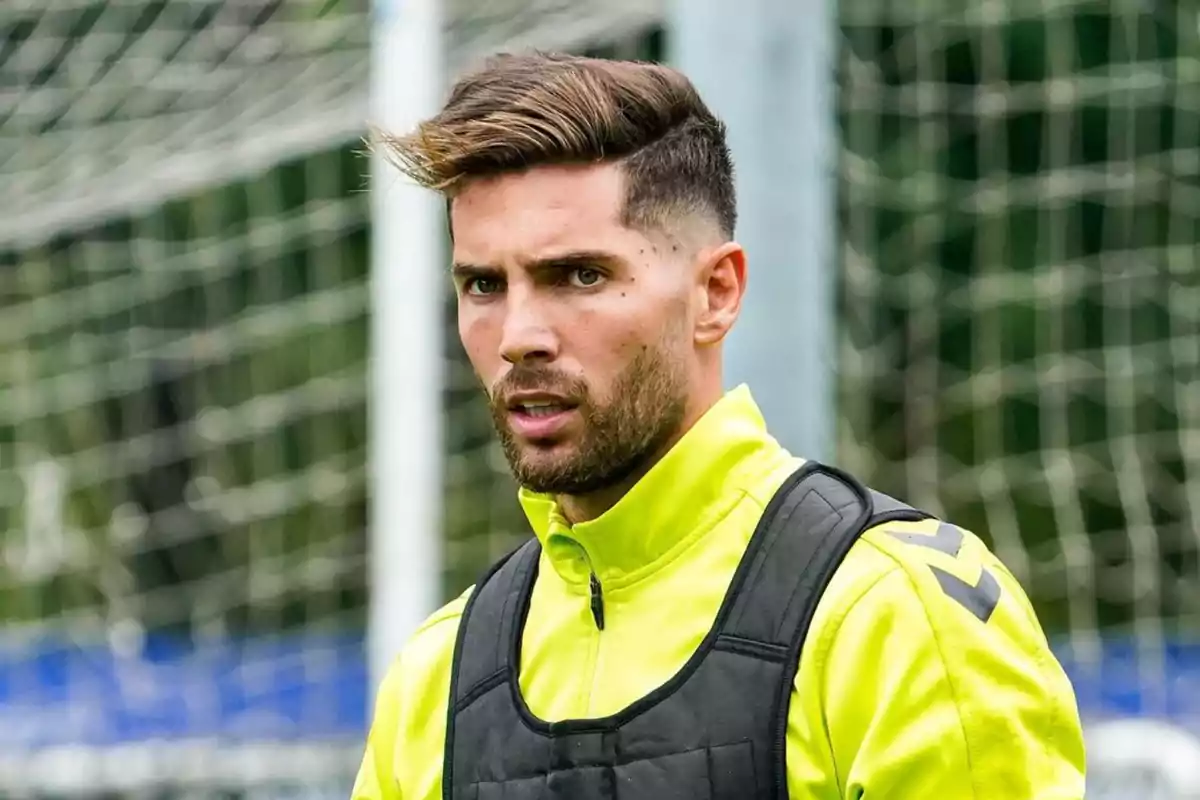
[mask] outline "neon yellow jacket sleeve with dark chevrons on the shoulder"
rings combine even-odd
[[[792,796],[1081,800],[1074,693],[1020,584],[974,537],[896,548],[823,643],[817,692],[797,686],[815,699],[791,715]]]

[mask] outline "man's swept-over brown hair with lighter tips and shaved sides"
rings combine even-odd
[[[452,198],[476,178],[541,164],[620,162],[622,221],[671,213],[737,223],[725,125],[691,82],[658,64],[557,53],[503,54],[458,80],[442,110],[379,144],[400,169]]]

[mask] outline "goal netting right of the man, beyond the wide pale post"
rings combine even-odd
[[[842,0],[840,455],[1200,730],[1200,8]]]

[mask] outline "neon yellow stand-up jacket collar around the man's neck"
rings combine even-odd
[[[600,517],[571,525],[552,497],[521,489],[520,500],[546,559],[565,582],[586,585],[595,573],[614,589],[670,563],[716,525],[742,498],[762,457],[780,452],[749,389],[738,386]]]

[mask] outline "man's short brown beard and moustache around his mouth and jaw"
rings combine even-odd
[[[584,495],[616,486],[649,467],[683,425],[686,378],[665,348],[647,348],[629,363],[601,405],[586,383],[547,367],[516,366],[492,391],[492,421],[516,481],[533,492]],[[505,398],[546,391],[577,403],[583,433],[563,455],[538,452],[509,427]],[[556,441],[546,450],[564,447]]]

